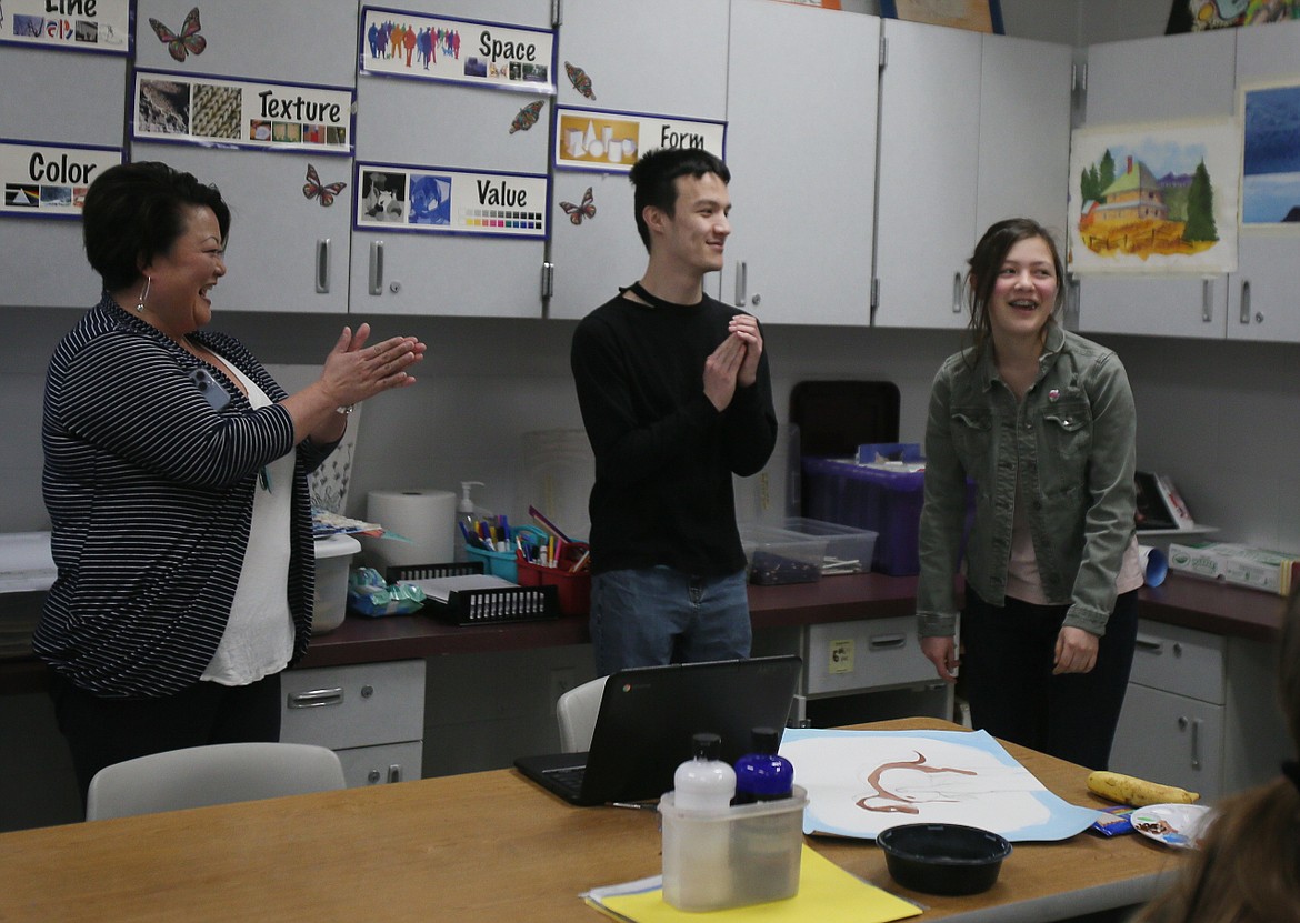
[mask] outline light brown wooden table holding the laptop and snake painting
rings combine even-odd
[[[933,719],[862,725],[956,729]],[[1076,805],[1082,767],[1008,745]],[[992,890],[907,892],[871,842],[812,837],[924,920],[1053,920],[1139,904],[1180,855],[1139,836],[1017,844]],[[653,811],[571,807],[514,770],[0,835],[0,920],[595,920],[578,894],[656,875]]]

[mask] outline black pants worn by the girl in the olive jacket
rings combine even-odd
[[[1091,672],[1053,676],[1057,634],[1067,608],[1018,599],[991,606],[967,585],[962,684],[976,728],[1104,770],[1134,660],[1138,593],[1115,599]]]

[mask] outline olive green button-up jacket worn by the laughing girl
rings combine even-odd
[[[967,478],[974,525],[966,582],[994,606],[1006,598],[1017,473],[1043,592],[1069,604],[1065,625],[1104,634],[1115,576],[1134,536],[1136,413],[1119,358],[1050,324],[1039,374],[1017,402],[992,348],[949,356],[935,376],[926,424],[920,514],[920,634],[953,634]]]

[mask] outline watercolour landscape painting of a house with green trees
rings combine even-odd
[[[1234,120],[1079,129],[1070,272],[1232,272],[1240,164]]]

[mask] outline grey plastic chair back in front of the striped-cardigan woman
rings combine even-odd
[[[86,819],[176,811],[344,788],[338,754],[309,744],[213,744],[105,766]]]

